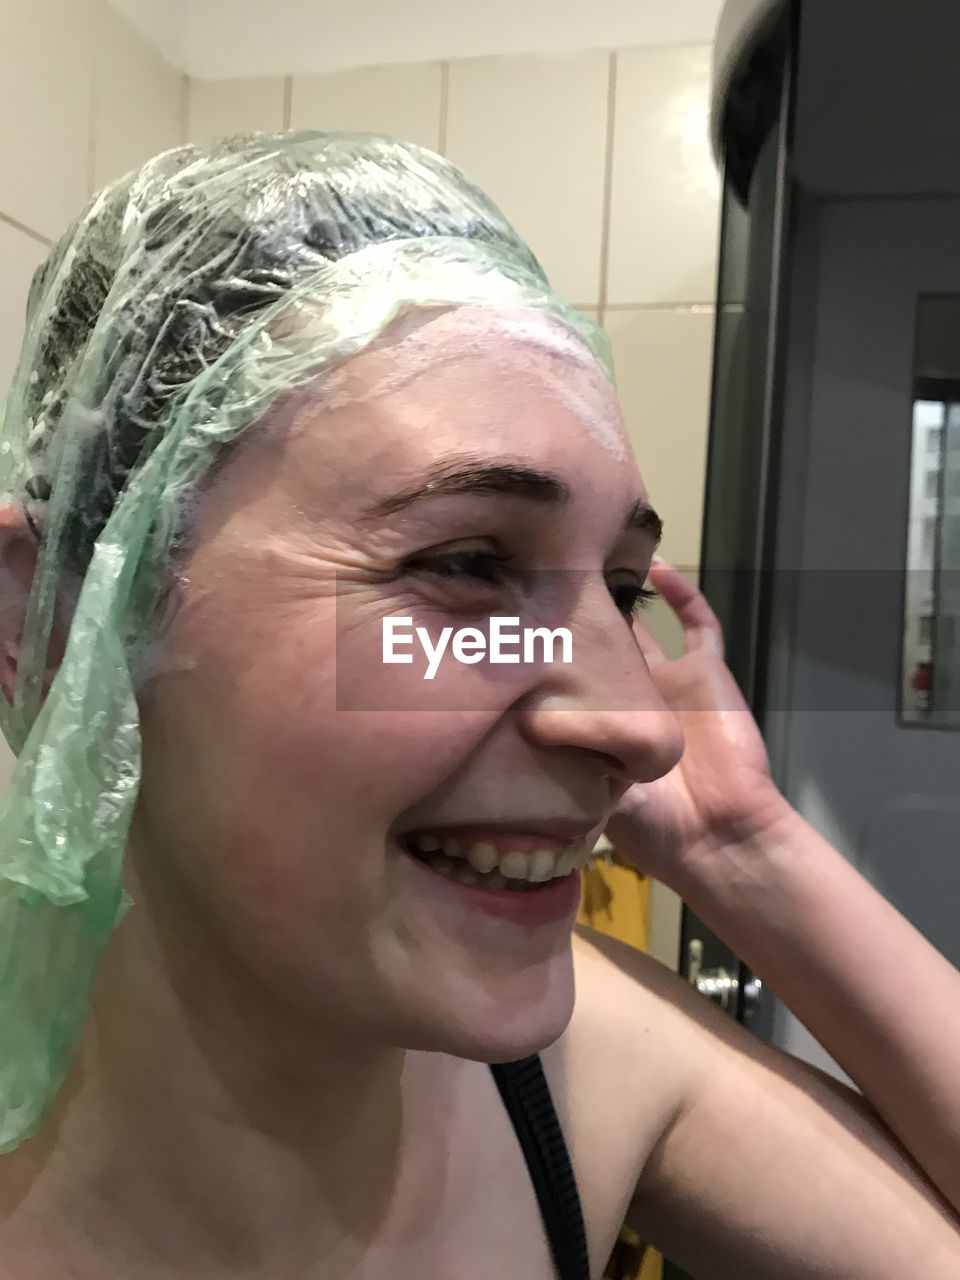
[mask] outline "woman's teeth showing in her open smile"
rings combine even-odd
[[[585,840],[558,850],[498,852],[481,840],[465,844],[452,837],[439,840],[436,836],[417,835],[410,837],[408,846],[433,870],[461,884],[513,890],[570,876],[572,870],[585,867],[593,852],[593,842]]]

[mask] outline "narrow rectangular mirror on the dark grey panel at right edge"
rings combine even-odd
[[[916,312],[900,718],[960,728],[960,294]]]

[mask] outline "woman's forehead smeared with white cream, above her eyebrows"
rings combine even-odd
[[[604,509],[645,500],[616,393],[585,344],[568,351],[567,335],[549,328],[549,317],[548,326],[521,333],[488,316],[470,344],[454,319],[462,320],[411,319],[393,344],[384,340],[344,364],[334,383],[338,399],[321,376],[278,403],[279,431],[259,442],[255,433],[223,493],[242,522],[257,511],[282,521],[291,506],[308,522],[352,522],[419,488],[435,488],[433,497],[522,497],[531,477],[540,490],[547,477],[573,502],[603,495]],[[429,347],[413,344],[398,356],[415,334]],[[404,360],[411,352],[431,358]],[[435,485],[451,467],[466,479]],[[443,509],[452,517],[449,504]]]

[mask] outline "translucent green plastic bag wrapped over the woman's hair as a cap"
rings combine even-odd
[[[168,151],[106,188],[38,270],[0,422],[0,488],[38,539],[0,800],[0,1152],[40,1128],[129,900],[140,785],[131,653],[184,500],[284,392],[430,306],[548,311],[612,379],[481,191],[371,134]],[[54,620],[65,652],[44,698]]]

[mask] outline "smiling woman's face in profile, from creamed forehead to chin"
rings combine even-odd
[[[526,340],[488,315],[467,342],[467,312],[425,319],[413,352],[355,357],[244,438],[205,497],[142,700],[134,829],[284,1001],[493,1061],[570,1018],[576,873],[470,887],[422,858],[582,854],[682,741],[637,648],[655,534],[605,378],[543,320]],[[384,662],[387,620],[435,643],[492,616],[566,627],[572,662],[448,652],[425,680],[419,641]]]

